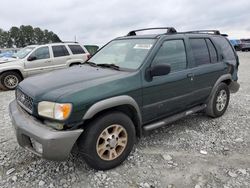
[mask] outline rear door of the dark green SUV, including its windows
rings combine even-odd
[[[218,51],[210,38],[190,38],[193,55],[193,84],[195,104],[204,103],[226,66],[218,57]]]

